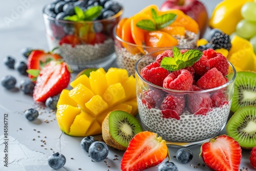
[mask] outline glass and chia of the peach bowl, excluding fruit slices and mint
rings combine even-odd
[[[198,34],[194,32],[186,31],[186,38],[176,37],[179,41],[179,45],[176,46],[179,49],[195,49],[197,47],[197,40],[199,39],[200,32]],[[172,47],[148,47],[131,44],[130,42],[124,41],[121,37],[116,34],[116,28],[114,29],[114,40],[116,50],[116,62],[119,68],[126,69],[129,74],[135,76],[135,63],[143,55],[158,51],[173,49]],[[143,49],[144,53],[140,51]]]

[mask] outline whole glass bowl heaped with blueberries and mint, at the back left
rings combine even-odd
[[[113,0],[54,0],[43,9],[49,49],[73,71],[108,67],[116,58],[113,29],[122,13]]]

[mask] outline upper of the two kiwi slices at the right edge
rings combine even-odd
[[[240,71],[234,82],[231,111],[236,112],[247,105],[256,105],[256,73]]]

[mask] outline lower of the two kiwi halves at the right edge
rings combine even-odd
[[[242,148],[256,146],[256,106],[245,106],[235,112],[227,122],[226,131]]]

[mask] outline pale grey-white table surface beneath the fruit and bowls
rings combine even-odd
[[[20,54],[22,48],[32,47],[48,50],[41,11],[42,7],[50,2],[50,0],[11,0],[2,2],[0,7],[0,78],[11,74],[17,78],[17,85],[19,81],[26,78],[26,76],[20,75],[4,66],[2,61],[5,56],[11,55],[16,58],[16,61],[26,61]],[[129,17],[147,5],[156,4],[160,6],[163,0],[119,0],[119,2],[124,6],[123,16]],[[203,2],[210,14],[220,0],[205,0]],[[18,13],[15,15],[14,11]],[[7,18],[10,19],[9,22],[7,22]],[[72,79],[74,76],[75,74],[72,75]],[[120,170],[123,152],[110,147],[109,159],[107,159],[110,167],[103,161],[92,162],[88,153],[83,152],[80,147],[81,137],[71,137],[61,133],[57,121],[54,120],[54,112],[48,109],[39,109],[41,114],[37,122],[29,122],[23,112],[26,109],[35,108],[35,106],[39,105],[33,102],[31,96],[24,95],[23,92],[17,90],[6,91],[0,86],[0,170],[54,170],[47,164],[47,158],[53,152],[62,153],[67,158],[65,168],[59,170],[78,170],[78,168],[81,168],[81,170],[100,171],[108,169]],[[4,114],[8,114],[8,167],[4,167],[5,163],[3,161],[5,155]],[[45,119],[48,119],[49,123],[44,122]],[[225,130],[221,134],[225,134]],[[96,138],[102,139],[101,136],[96,136]],[[46,144],[40,140],[45,140]],[[41,144],[44,144],[44,146],[41,146]],[[178,148],[169,147],[171,161],[178,166],[179,170],[210,170],[207,166],[203,166],[203,161],[199,158],[200,146],[189,148],[194,153],[193,160],[187,164],[180,164],[173,157]],[[118,160],[113,160],[115,155],[118,155]],[[190,166],[190,164],[193,166]],[[194,166],[198,168],[194,168]],[[243,167],[255,170],[249,164],[249,152],[244,150],[240,168],[242,169]],[[152,167],[147,170],[154,171],[156,169],[157,167]]]

